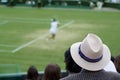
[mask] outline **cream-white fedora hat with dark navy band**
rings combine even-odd
[[[72,44],[70,52],[73,60],[83,69],[98,71],[110,61],[109,48],[95,34],[88,34],[82,42]]]

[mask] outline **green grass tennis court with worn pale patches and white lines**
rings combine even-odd
[[[54,42],[47,40],[53,17],[60,21]],[[116,56],[120,53],[120,12],[0,7],[0,64],[19,65],[26,72],[30,65],[43,71],[48,63],[57,63],[64,70],[65,50],[88,33],[99,35]]]

